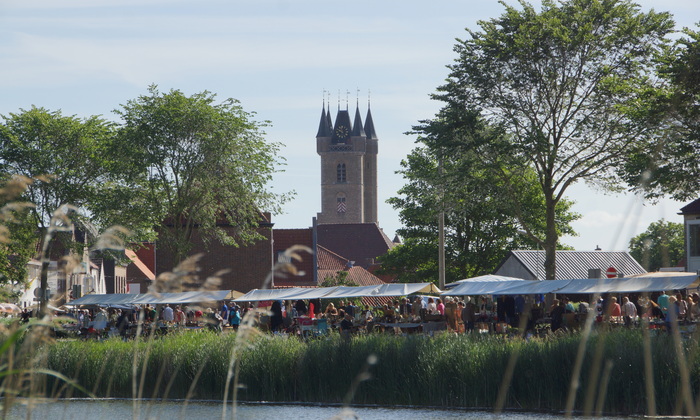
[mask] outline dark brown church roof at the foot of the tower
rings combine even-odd
[[[321,224],[317,231],[319,245],[361,267],[369,267],[394,247],[376,223]]]

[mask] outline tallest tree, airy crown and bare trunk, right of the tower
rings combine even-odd
[[[535,171],[546,230],[537,235],[521,223],[545,250],[551,279],[558,206],[576,182],[618,185],[615,168],[647,130],[633,112],[645,103],[647,74],[673,21],[627,0],[545,0],[540,13],[524,1],[520,6],[505,5],[499,18],[458,40],[458,58],[435,97],[482,110],[504,130],[509,143],[479,145],[503,182],[526,176],[518,173],[525,166]]]

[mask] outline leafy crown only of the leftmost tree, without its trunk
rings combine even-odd
[[[34,180],[23,198],[34,204],[39,228],[45,229],[64,204],[84,210],[94,201],[109,172],[105,159],[114,124],[36,107],[2,118],[0,169],[7,176]]]

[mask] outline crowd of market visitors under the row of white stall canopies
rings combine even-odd
[[[322,306],[318,299],[296,301],[273,301],[268,309],[256,311],[256,321],[273,332],[298,333],[300,325],[310,321],[324,320],[324,325],[344,334],[357,331],[419,331],[426,324],[434,322],[444,325],[453,332],[469,332],[495,324],[511,327],[525,327],[535,330],[536,324],[549,322],[551,331],[571,327],[572,322],[580,323],[587,316],[597,322],[612,322],[627,326],[636,325],[641,318],[650,322],[665,324],[700,321],[700,295],[698,293],[661,292],[646,295],[601,296],[589,303],[588,296],[578,299],[560,296],[552,300],[545,310],[542,297],[534,296],[473,296],[439,297],[412,296],[386,300],[381,305],[362,304],[352,300],[332,300]],[[239,305],[234,301],[222,302],[217,308],[204,310],[198,306],[145,305],[130,309],[94,308],[76,309],[64,313],[72,317],[72,327],[86,337],[118,333],[124,338],[133,336],[141,323],[142,331],[151,327],[209,328],[222,331],[224,328],[238,329],[246,313],[252,310],[252,303]],[[29,317],[27,311],[21,314],[22,320]],[[568,320],[568,321],[567,321]],[[522,322],[521,322],[522,321]]]

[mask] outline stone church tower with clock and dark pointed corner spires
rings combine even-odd
[[[359,106],[350,113],[338,109],[335,124],[325,103],[316,133],[321,156],[319,224],[377,223],[378,141],[369,105],[364,127]]]

